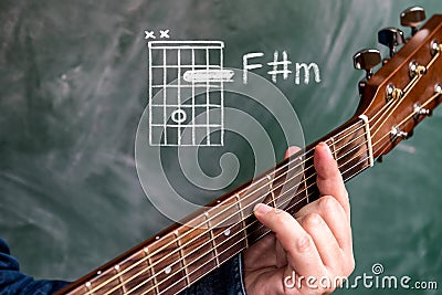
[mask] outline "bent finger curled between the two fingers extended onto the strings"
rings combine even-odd
[[[343,252],[348,255],[352,254],[351,226],[347,213],[334,197],[324,196],[319,198],[302,208],[295,217],[302,221],[309,214],[319,214]]]

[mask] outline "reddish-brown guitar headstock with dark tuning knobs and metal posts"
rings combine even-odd
[[[412,28],[409,39],[399,29],[379,31],[379,42],[389,46],[390,59],[382,61],[377,50],[362,50],[354,57],[355,67],[367,71],[359,83],[357,113],[369,119],[375,158],[409,138],[442,101],[442,15],[432,17],[418,30],[423,19],[421,8],[402,12],[401,23]],[[373,74],[377,63],[382,66]]]

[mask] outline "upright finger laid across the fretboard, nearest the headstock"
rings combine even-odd
[[[350,204],[348,193],[344,186],[343,176],[338,169],[332,151],[325,143],[320,143],[315,148],[314,156],[315,169],[317,172],[316,185],[322,196],[335,197],[348,217],[350,214]]]

